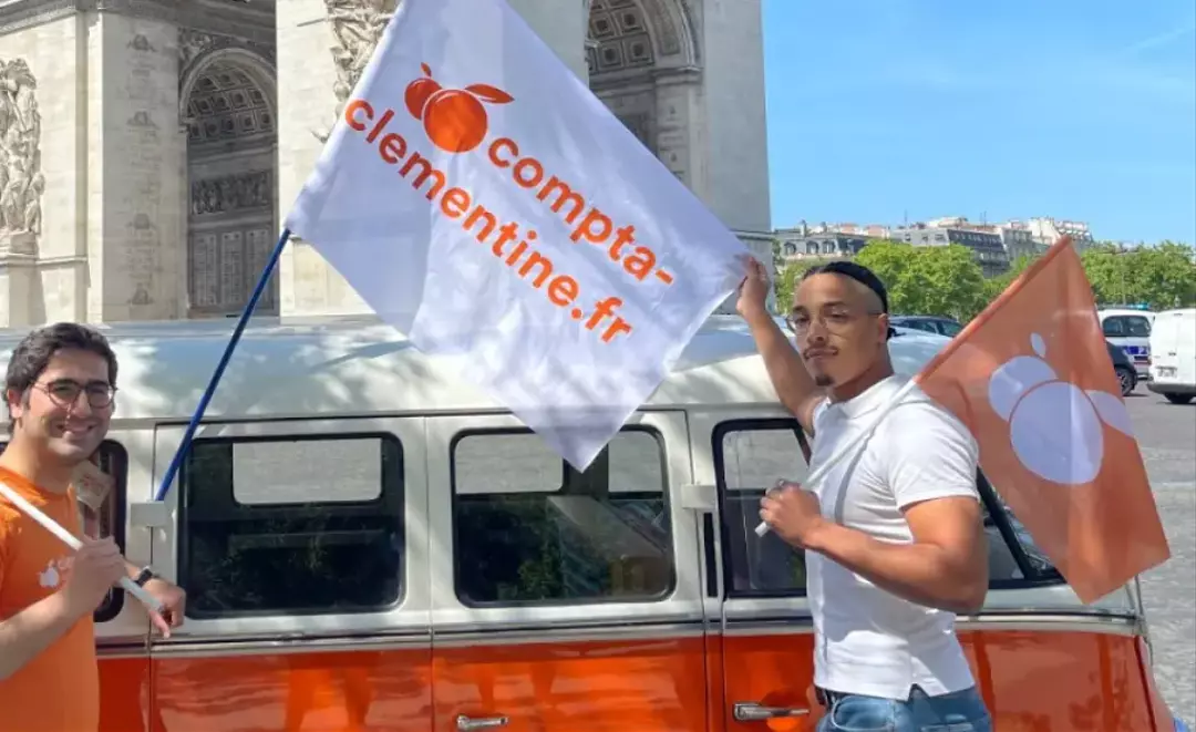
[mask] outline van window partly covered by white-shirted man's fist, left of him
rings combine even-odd
[[[725,422],[715,429],[727,597],[806,592],[804,553],[771,531],[756,536],[764,493],[782,477],[793,482],[806,477],[800,429],[795,420]]]

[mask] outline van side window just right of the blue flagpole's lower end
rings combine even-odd
[[[399,602],[403,453],[393,435],[196,440],[179,484],[188,616],[370,612]]]

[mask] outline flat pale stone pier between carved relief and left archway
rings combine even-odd
[[[94,14],[89,44],[90,321],[179,317],[185,256],[178,26]]]

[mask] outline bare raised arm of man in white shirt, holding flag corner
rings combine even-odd
[[[773,319],[767,299],[768,273],[763,264],[749,258],[748,273],[739,286],[739,301],[736,307],[751,329],[776,396],[798,419],[806,434],[813,434],[814,407],[824,398],[823,390],[810,378],[801,356]]]

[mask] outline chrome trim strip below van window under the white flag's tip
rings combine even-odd
[[[462,646],[515,646],[529,643],[575,643],[588,641],[671,641],[681,638],[702,638],[707,626],[692,623],[617,624],[574,628],[487,628],[486,630],[456,630],[433,633],[432,645],[440,648]],[[713,630],[713,628],[710,628]]]

